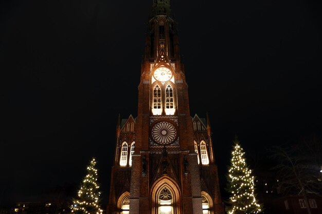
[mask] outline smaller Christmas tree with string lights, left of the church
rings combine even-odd
[[[97,183],[97,169],[95,158],[87,166],[87,174],[84,177],[78,190],[78,197],[73,199],[71,212],[76,214],[102,214],[100,208],[100,192]]]

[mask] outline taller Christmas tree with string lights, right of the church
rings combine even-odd
[[[230,166],[227,174],[227,187],[229,192],[228,214],[260,213],[262,205],[257,203],[254,190],[254,176],[247,167],[242,147],[237,138],[231,151]]]

